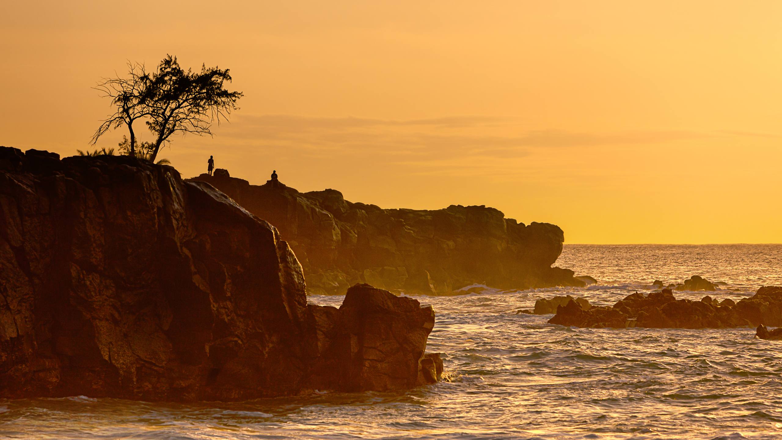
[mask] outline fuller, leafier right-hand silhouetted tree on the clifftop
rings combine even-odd
[[[211,124],[228,121],[242,92],[228,92],[224,82],[231,82],[228,69],[201,66],[200,72],[185,71],[176,56],[167,56],[152,74],[149,107],[149,129],[157,135],[150,160],[155,160],[160,146],[170,142],[174,133],[212,135]]]

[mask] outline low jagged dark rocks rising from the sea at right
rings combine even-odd
[[[577,327],[726,328],[782,326],[782,287],[761,287],[751,298],[734,302],[677,300],[670,289],[644,295],[634,293],[613,307],[585,310],[576,301],[560,305],[549,323]]]

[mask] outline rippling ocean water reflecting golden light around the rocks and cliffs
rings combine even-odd
[[[418,297],[436,311],[439,384],[192,405],[0,400],[0,438],[782,438],[782,341],[750,328],[571,329],[515,313],[554,294],[612,304],[692,275],[726,283],[712,297],[744,298],[782,285],[782,245],[569,245],[557,264],[598,283]]]

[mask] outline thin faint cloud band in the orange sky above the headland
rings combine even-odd
[[[239,115],[238,115],[239,116]],[[574,132],[525,130],[521,118],[432,117],[388,120],[366,117],[242,115],[221,133],[247,146],[273,147],[303,157],[346,156],[395,164],[411,174],[511,173],[520,160],[551,149],[641,146],[746,132],[647,130]]]

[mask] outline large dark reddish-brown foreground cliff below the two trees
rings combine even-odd
[[[362,287],[332,310],[305,290],[277,229],[174,168],[0,147],[5,398],[253,399],[442,372],[431,308]]]

